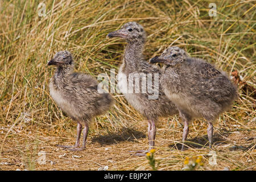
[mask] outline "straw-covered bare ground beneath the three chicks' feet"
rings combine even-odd
[[[209,155],[206,123],[192,123],[188,139],[193,143],[188,144],[187,150],[180,151],[182,127],[175,120],[162,119],[158,122],[155,159],[159,162],[159,170],[180,170],[184,167],[185,157],[198,155],[203,156],[204,166],[199,168],[202,170],[222,170],[225,167],[230,170],[256,169],[256,135],[251,126],[255,121],[216,123],[213,150],[216,151],[217,164],[210,165],[209,160],[213,156]],[[76,127],[72,122],[68,123],[68,129],[54,132],[51,129],[32,129],[31,132],[14,127],[7,137],[8,128],[1,126],[1,131],[4,131],[1,138],[6,137],[1,146],[1,170],[97,170],[105,166],[108,170],[150,170],[145,157],[130,152],[147,148],[147,122],[130,124],[134,126],[108,134],[101,134],[101,130],[90,131],[86,150],[77,152],[55,146],[75,142]]]

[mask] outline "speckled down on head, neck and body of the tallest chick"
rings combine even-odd
[[[125,55],[123,57],[123,63],[119,68],[118,85],[122,91],[123,76],[128,78],[131,73],[152,73],[152,87],[154,88],[154,73],[159,73],[159,78],[162,76],[159,68],[149,64],[143,58],[143,46],[146,42],[146,32],[143,27],[136,22],[129,22],[122,26],[121,30],[133,28],[133,34],[126,37],[127,46],[125,48]],[[118,31],[115,31],[116,34]],[[128,80],[126,80],[128,81]],[[169,115],[177,114],[175,105],[168,100],[163,93],[162,87],[159,86],[159,97],[156,100],[149,100],[148,93],[123,93],[126,100],[143,114],[148,119],[157,119],[158,117],[167,117]]]

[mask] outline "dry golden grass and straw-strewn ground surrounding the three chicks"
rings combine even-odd
[[[53,69],[46,67],[47,60],[56,51],[68,49],[75,57],[77,71],[93,76],[109,74],[121,64],[125,42],[106,39],[106,34],[129,21],[141,23],[147,31],[147,59],[174,43],[229,75],[237,71],[242,80],[239,100],[214,125],[217,165],[208,163],[207,125],[203,121],[192,123],[189,149],[177,150],[182,126],[176,116],[159,119],[158,169],[180,170],[187,156],[196,155],[203,156],[202,170],[256,169],[255,1],[216,1],[217,17],[208,15],[212,1],[43,2],[46,17],[38,16],[39,1],[0,1],[0,169],[151,169],[146,158],[129,153],[147,148],[147,123],[118,94],[109,113],[97,117],[90,126],[86,150],[55,147],[75,142],[76,125],[49,97]],[[46,164],[38,163],[39,151],[46,152]]]

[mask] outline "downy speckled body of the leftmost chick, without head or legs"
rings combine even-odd
[[[49,84],[50,95],[69,117],[79,122],[89,122],[105,113],[113,104],[108,93],[98,93],[98,82],[84,73],[58,68]]]

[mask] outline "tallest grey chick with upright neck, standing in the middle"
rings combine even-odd
[[[177,114],[178,111],[175,105],[170,100],[168,100],[166,95],[163,93],[161,86],[154,84],[154,81],[158,80],[161,77],[160,69],[144,60],[142,53],[144,43],[146,42],[146,32],[140,24],[136,22],[129,22],[124,24],[120,30],[110,32],[107,37],[119,37],[125,39],[127,42],[127,46],[125,48],[125,55],[123,57],[123,63],[119,68],[118,87],[124,94],[126,100],[135,109],[137,109],[139,113],[141,113],[144,117],[148,119],[148,140],[150,146],[149,149],[154,148],[154,140],[156,134],[155,122],[159,117],[174,115]],[[149,84],[149,86],[157,89],[158,98],[150,99],[150,93],[143,93],[142,84],[135,85],[139,86],[138,93],[127,92],[126,88],[130,88],[130,84],[129,86],[127,86],[126,84],[127,82],[129,82],[128,77],[131,75],[139,76],[141,74],[146,76],[152,75],[152,80],[147,78],[147,81],[152,82],[152,84]],[[138,151],[137,155],[139,155],[139,152],[143,153],[146,151]]]

